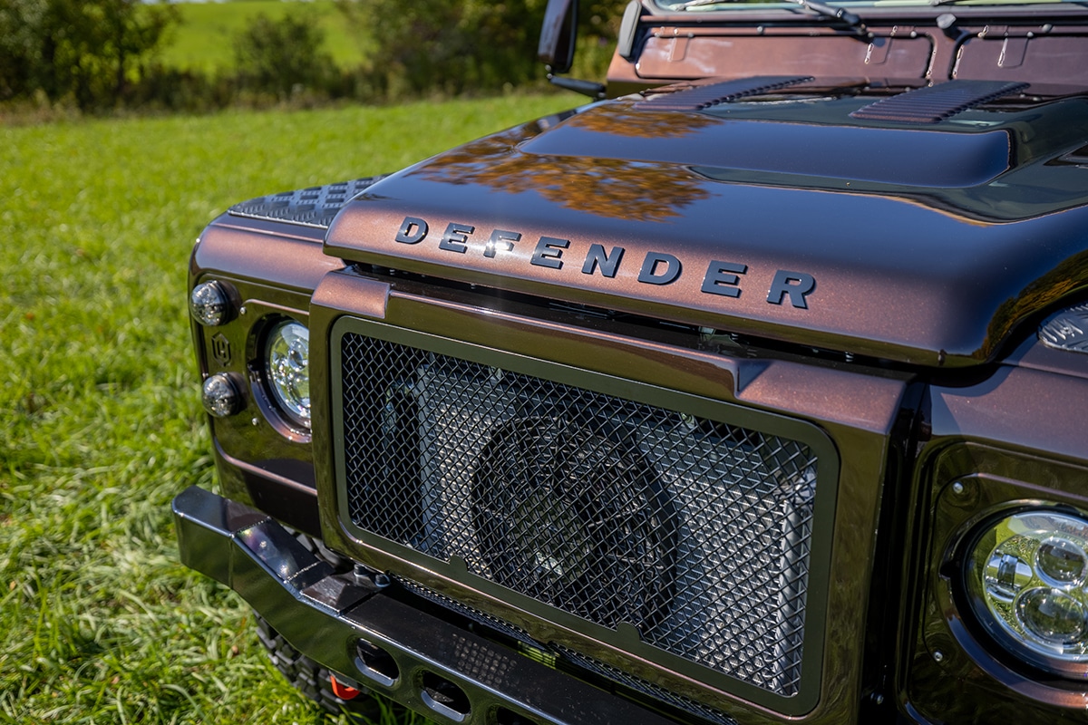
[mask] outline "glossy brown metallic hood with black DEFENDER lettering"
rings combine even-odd
[[[1088,101],[887,122],[848,88],[527,124],[370,187],[325,252],[925,365],[1088,286]]]

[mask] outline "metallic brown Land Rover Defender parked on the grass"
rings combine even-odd
[[[1088,7],[576,13],[582,105],[203,232],[184,562],[334,710],[1088,722]]]

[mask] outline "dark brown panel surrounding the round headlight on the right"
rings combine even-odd
[[[982,688],[994,698],[988,712],[1083,710],[1088,679],[1050,674],[1002,646],[976,621],[962,583],[965,550],[979,527],[1026,509],[1088,512],[1088,466],[974,441],[944,447],[929,465],[928,523],[919,530],[924,538],[913,539],[924,547],[923,578],[916,579],[924,589],[911,618],[900,622],[913,633],[907,682],[914,697],[931,707],[938,698],[944,712],[948,698]],[[960,720],[974,712],[966,700],[953,710]]]

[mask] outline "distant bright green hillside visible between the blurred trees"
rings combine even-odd
[[[351,34],[332,0],[181,2],[176,8],[182,23],[162,50],[163,63],[172,67],[207,73],[230,71],[234,66],[234,38],[249,22],[260,14],[280,18],[287,13],[311,16],[325,33],[325,50],[342,67],[355,67],[363,61],[364,46]]]

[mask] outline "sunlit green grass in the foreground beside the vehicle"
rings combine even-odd
[[[245,603],[176,560],[171,498],[214,487],[189,248],[235,201],[576,102],[0,127],[0,722],[321,722]]]

